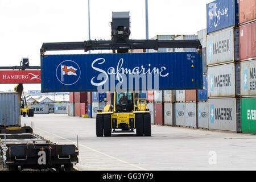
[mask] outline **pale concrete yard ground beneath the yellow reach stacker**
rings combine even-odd
[[[96,137],[95,119],[22,117],[22,126],[57,144],[76,144],[80,170],[256,170],[256,135],[152,125],[151,137]]]

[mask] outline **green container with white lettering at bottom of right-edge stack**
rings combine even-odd
[[[256,98],[242,98],[242,133],[256,134]]]

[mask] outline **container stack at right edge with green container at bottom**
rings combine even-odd
[[[256,1],[240,1],[241,130],[256,134]]]

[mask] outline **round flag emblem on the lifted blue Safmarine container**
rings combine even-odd
[[[81,75],[80,67],[75,61],[62,61],[56,68],[56,77],[63,85],[75,84]]]

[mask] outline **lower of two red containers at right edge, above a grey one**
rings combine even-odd
[[[240,27],[240,60],[256,58],[256,21]]]

